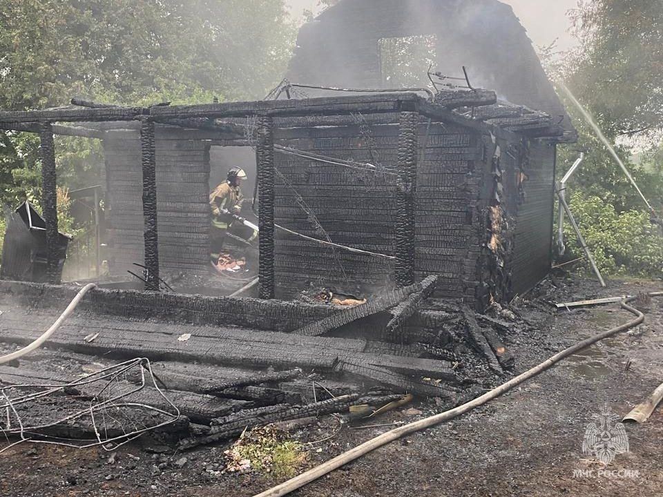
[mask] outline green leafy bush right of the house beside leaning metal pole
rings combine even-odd
[[[661,276],[663,236],[644,211],[618,213],[603,199],[573,193],[570,208],[585,241],[604,275]],[[568,252],[584,257],[573,227],[568,220],[564,231]],[[584,263],[589,269],[588,263]]]

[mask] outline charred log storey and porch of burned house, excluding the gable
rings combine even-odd
[[[44,140],[47,233],[57,233],[52,133],[104,139],[115,273],[143,260],[151,278],[208,271],[209,148],[249,146],[247,128],[257,145],[262,298],[311,285],[369,293],[438,275],[439,295],[484,305],[550,266],[564,129],[494,92],[79,107],[0,121]]]

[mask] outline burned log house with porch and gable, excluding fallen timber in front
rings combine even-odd
[[[398,57],[430,61],[401,68],[409,81],[394,72],[399,40]],[[510,7],[340,1],[302,28],[289,79],[271,97],[73,101],[0,113],[0,127],[41,134],[51,242],[53,133],[103,140],[111,275],[142,262],[153,285],[160,273],[207,275],[208,194],[220,168],[235,165],[256,182],[242,215],[259,217],[262,298],[369,295],[436,275],[439,296],[481,309],[548,272],[556,144],[575,130]]]

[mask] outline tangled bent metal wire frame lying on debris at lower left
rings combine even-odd
[[[140,383],[132,384],[126,378],[136,368],[140,371]],[[155,390],[163,398],[167,410],[135,401],[135,396],[146,387]],[[39,391],[31,391],[35,389]],[[26,390],[28,393],[24,393]],[[0,409],[6,411],[6,422],[0,423],[0,431],[8,442],[10,437],[19,436],[19,440],[1,448],[0,453],[22,442],[80,449],[101,446],[111,451],[143,433],[171,425],[180,419],[180,410],[159,388],[146,358],[115,364],[72,382],[10,385],[1,388],[0,394]],[[84,401],[83,407],[81,402]],[[48,422],[41,419],[44,413],[50,414],[62,409],[62,403],[66,404],[62,415]],[[68,412],[68,407],[72,411]],[[148,418],[153,422],[148,422]],[[94,433],[95,438],[73,438],[48,433],[49,429],[57,428],[79,429],[83,433]],[[122,433],[115,434],[117,431]]]

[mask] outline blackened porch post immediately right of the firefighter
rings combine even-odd
[[[273,299],[274,282],[274,135],[273,119],[258,125],[258,191],[260,195],[260,298]]]

